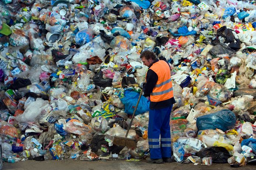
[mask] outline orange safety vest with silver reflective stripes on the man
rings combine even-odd
[[[158,75],[158,81],[150,95],[150,101],[159,102],[168,100],[173,97],[172,79],[170,73],[170,67],[167,62],[159,60],[154,63],[151,67]]]

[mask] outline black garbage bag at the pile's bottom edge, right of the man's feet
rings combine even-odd
[[[212,163],[226,163],[231,155],[224,147],[208,147],[197,152],[197,156],[200,158],[212,157]]]

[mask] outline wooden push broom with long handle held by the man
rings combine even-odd
[[[141,93],[139,94],[139,99],[138,99],[137,104],[135,106],[134,112],[132,113],[132,119],[131,119],[131,122],[130,122],[130,124],[128,126],[128,129],[127,129],[127,132],[125,134],[125,137],[115,136],[113,144],[115,144],[117,146],[124,146],[124,147],[126,146],[127,148],[135,148],[136,147],[135,139],[127,138],[127,135],[128,135],[129,130],[131,128],[132,120],[134,118],[135,112],[136,112],[136,110],[138,108],[139,100],[141,99],[141,95],[142,95],[142,91],[143,90],[141,90]]]

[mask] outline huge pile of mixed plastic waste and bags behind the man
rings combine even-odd
[[[153,50],[170,63],[173,159],[255,164],[254,0],[1,0],[5,162],[149,154],[149,100],[124,136]]]

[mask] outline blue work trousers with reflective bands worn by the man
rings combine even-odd
[[[162,109],[149,109],[148,144],[151,159],[172,156],[170,132],[172,106]]]

